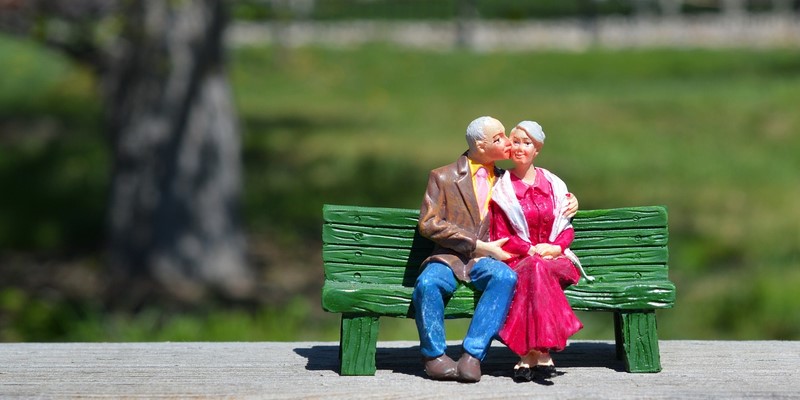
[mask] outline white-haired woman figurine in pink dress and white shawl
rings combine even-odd
[[[517,283],[499,337],[520,356],[515,380],[547,379],[556,375],[550,353],[563,350],[583,327],[564,289],[585,273],[569,250],[575,233],[562,212],[569,203],[567,187],[533,166],[544,144],[542,127],[523,121],[509,138],[514,168],[492,191],[491,239],[508,238],[503,250],[513,257],[505,261],[516,271]]]

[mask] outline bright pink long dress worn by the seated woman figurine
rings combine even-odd
[[[549,240],[554,202],[552,187],[544,174],[537,170],[536,181],[531,186],[512,174],[511,183],[528,222],[531,242],[568,248],[575,237],[572,228],[561,232],[555,241]],[[492,203],[491,207],[492,240],[508,237],[503,249],[512,254],[524,254],[506,261],[517,272],[517,286],[505,325],[499,332],[500,339],[519,355],[531,350],[561,351],[567,339],[583,328],[564,295],[564,289],[577,283],[580,274],[563,255],[551,260],[539,255],[528,256],[531,244],[514,233],[497,204]]]

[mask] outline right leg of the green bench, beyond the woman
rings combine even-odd
[[[615,312],[614,331],[617,357],[625,361],[626,371],[661,371],[655,311]]]

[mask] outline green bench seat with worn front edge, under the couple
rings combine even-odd
[[[326,281],[322,305],[326,311],[349,314],[413,317],[411,292],[400,285],[356,284]],[[635,284],[579,284],[565,293],[576,310],[638,310],[670,308],[675,302],[675,286],[669,281]],[[472,315],[478,294],[460,287],[445,307],[449,317]]]

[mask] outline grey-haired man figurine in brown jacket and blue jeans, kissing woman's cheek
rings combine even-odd
[[[478,382],[480,362],[503,326],[516,283],[514,271],[499,261],[510,257],[500,247],[505,240],[488,242],[491,218],[487,216],[492,185],[503,173],[494,164],[508,158],[511,144],[503,124],[492,117],[472,121],[466,138],[469,149],[456,162],[431,171],[428,178],[419,231],[435,247],[422,263],[413,304],[428,376]],[[458,281],[472,282],[483,295],[456,363],[445,354],[444,305]]]

